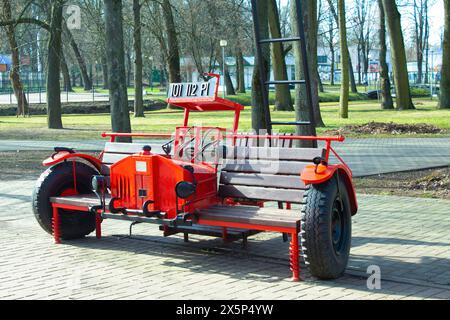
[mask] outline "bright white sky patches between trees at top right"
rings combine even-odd
[[[325,0],[323,0],[325,1]],[[282,6],[286,6],[288,0],[279,0]],[[353,7],[354,0],[345,1],[348,8]],[[407,17],[408,11],[412,8],[400,7],[400,13],[402,14],[402,28],[408,30],[412,27],[412,21]],[[347,13],[348,14],[348,13]],[[431,46],[439,46],[441,42],[441,34],[444,26],[444,2],[443,0],[436,0],[434,5],[429,8],[430,15],[430,44]],[[408,34],[405,34],[405,39]],[[407,39],[405,40],[407,41]]]

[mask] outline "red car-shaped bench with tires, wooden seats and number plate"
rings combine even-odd
[[[195,233],[246,243],[256,232],[279,232],[290,236],[295,280],[300,249],[312,275],[340,276],[357,212],[351,170],[331,146],[344,138],[239,134],[244,107],[218,97],[218,85],[214,74],[171,85],[168,102],[184,109],[175,134],[104,133],[110,141],[99,158],[56,147],[33,194],[42,228],[56,243],[94,230],[100,238],[107,219],[156,223],[164,236],[182,233],[186,241]],[[190,113],[210,111],[234,112],[231,130],[189,126]],[[170,141],[155,152],[122,137]],[[324,147],[296,148],[296,140]]]

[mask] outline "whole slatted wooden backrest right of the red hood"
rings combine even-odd
[[[300,173],[324,150],[236,146],[225,153],[220,196],[301,203],[306,187]]]

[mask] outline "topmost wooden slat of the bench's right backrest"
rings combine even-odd
[[[322,156],[320,148],[268,148],[268,147],[242,147],[227,146],[226,158],[228,159],[261,159],[261,160],[296,160],[312,161],[315,157]]]

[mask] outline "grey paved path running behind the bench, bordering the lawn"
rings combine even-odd
[[[101,150],[104,140],[92,141],[0,141],[0,151],[53,150],[56,145],[78,150]],[[162,152],[151,141],[154,152]],[[336,150],[355,176],[374,175],[450,165],[450,138],[347,139]]]

